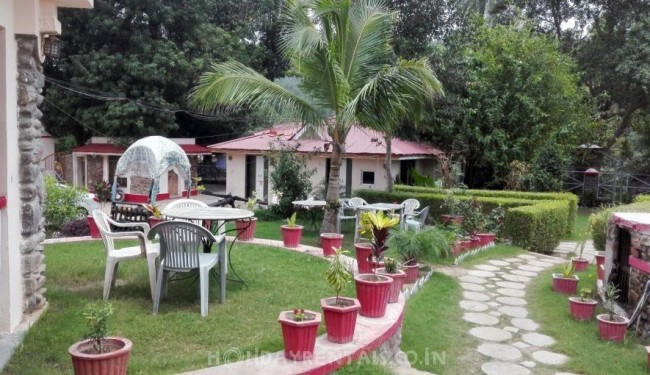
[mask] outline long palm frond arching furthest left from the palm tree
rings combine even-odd
[[[189,101],[205,112],[245,106],[255,110],[272,109],[308,124],[318,124],[322,120],[318,109],[307,101],[236,61],[212,65],[212,69],[199,78]]]

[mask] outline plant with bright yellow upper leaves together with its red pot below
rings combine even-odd
[[[371,235],[372,253],[368,261],[371,265],[381,264],[388,249],[388,231],[399,223],[399,217],[385,215],[383,212],[364,212],[361,216],[362,235]],[[381,318],[386,313],[388,296],[393,279],[375,273],[358,274],[355,278],[357,298],[361,303],[360,314],[371,318]]]

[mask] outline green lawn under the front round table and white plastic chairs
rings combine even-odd
[[[120,265],[109,301],[115,314],[110,334],[133,341],[131,374],[172,374],[242,360],[282,349],[277,317],[281,310],[320,310],[331,296],[327,262],[292,251],[238,244],[232,262],[249,288],[229,282],[226,303],[210,281],[210,309],[201,317],[198,281],[169,283],[157,316],[147,279],[146,260]],[[32,327],[5,368],[6,374],[70,374],[67,350],[84,336],[80,313],[100,302],[105,253],[100,241],[45,246],[49,307]],[[343,295],[354,295],[350,285]],[[321,325],[321,333],[324,325]]]

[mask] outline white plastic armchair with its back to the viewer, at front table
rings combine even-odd
[[[160,298],[167,294],[167,278],[171,272],[199,271],[201,290],[201,316],[208,315],[208,292],[210,269],[219,263],[219,255],[225,254],[226,236],[214,236],[209,230],[194,223],[166,221],[153,227],[150,239],[160,238],[160,270],[156,280],[156,292],[153,300],[153,314],[158,313]],[[219,244],[218,253],[205,253],[205,246]],[[225,258],[222,259],[225,261]],[[225,275],[224,275],[225,276]],[[222,278],[225,284],[225,280]],[[225,298],[225,285],[221,285],[221,299]]]

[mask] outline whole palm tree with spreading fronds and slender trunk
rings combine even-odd
[[[288,0],[282,13],[281,51],[314,101],[237,62],[214,64],[190,101],[204,111],[238,106],[271,110],[325,130],[332,147],[321,232],[334,232],[341,159],[352,125],[397,123],[411,109],[419,114],[440,83],[425,60],[389,65],[395,15],[383,1]],[[409,108],[414,103],[418,105]]]

